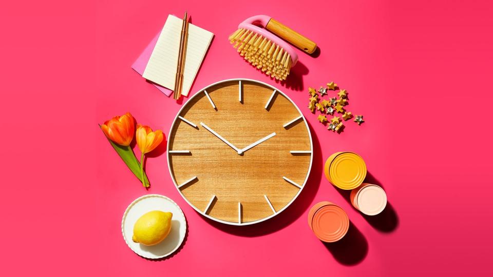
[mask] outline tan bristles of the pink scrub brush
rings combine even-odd
[[[291,57],[267,37],[247,29],[238,29],[229,37],[240,56],[276,80],[284,81],[291,68]]]

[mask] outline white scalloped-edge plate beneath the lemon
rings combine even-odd
[[[134,234],[134,224],[144,213],[160,210],[173,213],[171,220],[172,227],[164,241],[157,245],[145,246],[132,241]],[[185,239],[186,220],[183,211],[175,201],[160,194],[147,194],[140,196],[128,205],[122,219],[123,239],[128,247],[135,253],[148,259],[164,258],[175,252]]]

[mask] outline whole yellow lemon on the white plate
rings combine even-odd
[[[156,245],[162,242],[171,230],[173,213],[150,211],[142,215],[134,225],[132,241],[143,245]]]

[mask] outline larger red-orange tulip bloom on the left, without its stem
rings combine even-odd
[[[134,117],[129,113],[115,116],[101,125],[101,129],[111,141],[128,146],[134,139]]]

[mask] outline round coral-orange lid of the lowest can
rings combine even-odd
[[[348,229],[348,214],[337,205],[323,206],[313,215],[312,230],[321,241],[336,242],[346,235]]]

